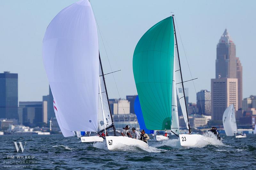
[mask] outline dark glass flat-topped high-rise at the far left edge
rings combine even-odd
[[[19,119],[17,73],[0,73],[0,118]]]

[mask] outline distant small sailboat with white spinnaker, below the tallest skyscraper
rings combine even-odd
[[[236,135],[238,131],[237,131],[237,125],[236,125],[235,109],[233,104],[227,107],[226,110],[224,111],[222,122],[223,122],[223,127],[227,136],[234,136],[235,134],[236,138],[246,137],[245,134]]]

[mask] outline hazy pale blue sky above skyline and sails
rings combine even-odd
[[[48,80],[42,59],[46,27],[64,7],[76,0],[1,0],[0,72],[18,73],[19,101],[40,101],[48,94]],[[182,0],[91,0],[103,41],[100,53],[105,73],[115,73],[122,98],[137,94],[132,55],[140,37],[154,24],[174,12],[196,91],[211,90],[215,78],[216,45],[225,28],[236,44],[236,56],[243,66],[243,98],[256,95],[256,1],[182,1]],[[107,55],[103,47],[105,44]],[[191,79],[184,50],[178,38],[184,80]],[[110,98],[119,98],[113,76],[107,75]],[[192,82],[189,102],[196,101]]]

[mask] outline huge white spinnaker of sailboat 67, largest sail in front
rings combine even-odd
[[[88,0],[60,11],[46,29],[43,61],[52,95],[61,108],[62,126],[98,130],[99,47]]]

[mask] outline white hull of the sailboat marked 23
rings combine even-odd
[[[203,136],[198,134],[180,134],[179,137],[180,145],[182,147],[193,147],[202,139]]]

